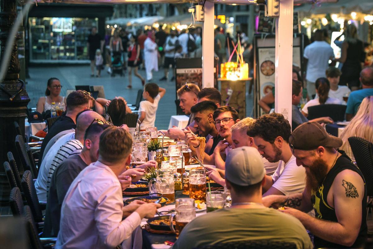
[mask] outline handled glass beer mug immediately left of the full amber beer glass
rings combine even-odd
[[[157,178],[149,181],[149,194],[160,193],[168,198],[167,204],[175,202],[175,180],[172,169],[157,169]]]

